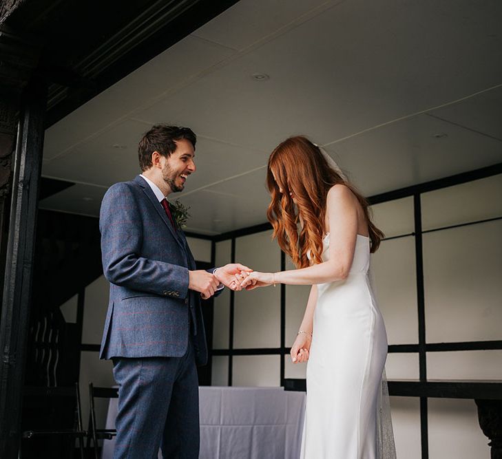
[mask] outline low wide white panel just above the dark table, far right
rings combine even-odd
[[[429,379],[502,379],[502,350],[427,353]]]

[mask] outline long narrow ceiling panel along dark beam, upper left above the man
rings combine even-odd
[[[116,120],[133,115],[138,107],[148,106],[189,83],[232,53],[215,43],[187,36],[45,131],[44,157],[53,158],[92,138]],[[170,116],[167,109],[156,122]]]

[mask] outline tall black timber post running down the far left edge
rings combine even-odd
[[[23,92],[19,114],[0,321],[2,459],[19,455],[46,97],[46,85],[32,81]]]

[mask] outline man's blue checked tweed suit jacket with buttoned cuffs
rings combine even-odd
[[[196,362],[206,363],[200,296],[188,290],[194,257],[149,184],[138,175],[111,186],[99,227],[110,283],[100,358],[180,357],[191,333]]]

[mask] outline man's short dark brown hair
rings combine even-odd
[[[188,140],[194,147],[197,136],[189,127],[178,127],[168,125],[155,125],[143,135],[138,145],[138,157],[141,171],[146,171],[151,167],[151,153],[158,151],[162,156],[169,158],[176,150],[176,140]]]

